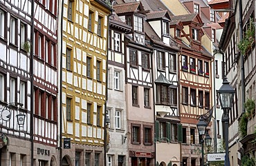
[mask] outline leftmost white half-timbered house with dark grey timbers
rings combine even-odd
[[[30,162],[31,5],[0,1],[0,165]],[[25,115],[23,126],[17,114]]]

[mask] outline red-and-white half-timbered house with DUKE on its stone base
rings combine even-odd
[[[56,165],[57,0],[34,1],[33,15],[34,163]]]

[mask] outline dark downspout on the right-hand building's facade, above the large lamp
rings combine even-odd
[[[240,41],[243,39],[243,12],[241,0],[239,0],[239,37]],[[240,52],[240,63],[241,63],[241,112],[244,113],[244,103],[245,101],[245,87],[244,87],[244,55]]]

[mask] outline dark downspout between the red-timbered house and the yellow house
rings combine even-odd
[[[62,10],[61,17],[60,17],[60,90],[59,90],[59,96],[60,96],[60,165],[62,165],[62,44],[63,44],[63,8],[64,8],[64,0],[62,0]]]

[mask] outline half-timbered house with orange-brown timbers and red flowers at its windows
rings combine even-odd
[[[196,154],[200,147],[196,129],[200,115],[210,111],[212,101],[212,73],[210,52],[201,45],[203,23],[199,14],[171,17],[170,30],[181,45],[179,52],[179,100],[182,128],[182,160],[196,165],[201,158]]]

